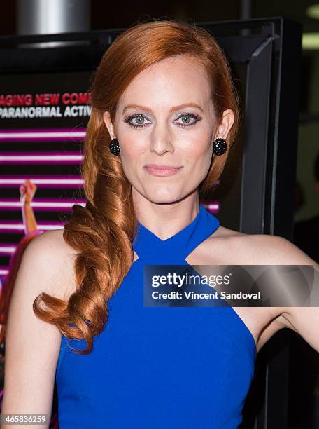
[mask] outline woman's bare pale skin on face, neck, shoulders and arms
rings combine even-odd
[[[153,64],[132,80],[118,102],[113,122],[107,111],[104,114],[110,137],[120,142],[120,160],[132,184],[136,215],[141,224],[162,240],[178,233],[196,216],[198,186],[211,165],[213,140],[225,139],[234,123],[230,109],[223,112],[220,123],[216,122],[209,93],[204,70],[189,57],[173,57]],[[171,111],[185,103],[192,106]],[[140,107],[129,107],[123,113],[132,104]],[[200,119],[188,118],[185,113],[196,114]],[[130,122],[147,124],[140,129],[124,121],[127,116],[137,114],[144,120],[134,118]],[[178,125],[187,123],[194,125],[185,128]],[[182,168],[176,175],[155,177],[143,168],[150,163]],[[31,241],[22,258],[6,334],[3,414],[51,413],[61,334],[55,325],[36,318],[32,303],[43,291],[67,299],[76,290],[73,275],[76,252],[64,243],[62,233],[63,229],[45,231]],[[134,254],[134,261],[137,258]],[[285,238],[250,235],[224,226],[201,243],[186,261],[192,265],[222,265],[227,261],[233,265],[318,267]],[[288,327],[319,353],[318,308],[236,307],[234,310],[253,334],[257,351],[275,332]]]

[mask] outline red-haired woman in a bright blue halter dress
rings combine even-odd
[[[225,55],[193,25],[135,25],[104,54],[91,95],[87,205],[22,260],[3,413],[50,414],[56,376],[62,429],[236,428],[257,351],[283,327],[319,351],[318,309],[143,306],[146,264],[313,264],[199,204],[239,127]]]

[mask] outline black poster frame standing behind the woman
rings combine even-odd
[[[231,63],[247,66],[240,230],[292,240],[302,25],[283,17],[197,25],[214,34]],[[1,36],[0,74],[93,71],[123,30]],[[70,46],[31,45],[50,41]],[[281,330],[259,353],[242,428],[288,429],[289,335]]]

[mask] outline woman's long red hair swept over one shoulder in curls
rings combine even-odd
[[[76,353],[92,350],[93,337],[101,333],[108,318],[108,300],[122,284],[134,259],[132,240],[137,220],[131,184],[120,157],[108,149],[111,137],[103,114],[109,111],[113,121],[118,100],[132,79],[151,64],[173,55],[190,55],[206,70],[216,127],[225,109],[232,109],[235,116],[226,139],[227,152],[212,157],[208,175],[199,186],[200,199],[220,177],[239,128],[239,97],[231,70],[222,48],[208,30],[173,20],[143,22],[125,30],[106,50],[90,88],[92,113],[81,165],[87,204],[73,205],[63,234],[66,243],[78,251],[76,292],[68,301],[44,292],[34,301],[39,318],[57,325],[64,336],[87,341],[87,349],[72,349]]]

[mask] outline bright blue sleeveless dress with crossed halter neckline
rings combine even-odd
[[[84,340],[62,336],[56,382],[60,429],[234,429],[253,380],[253,335],[231,306],[143,306],[143,266],[185,258],[220,222],[204,206],[162,240],[139,223],[139,256],[108,301],[108,320]]]

